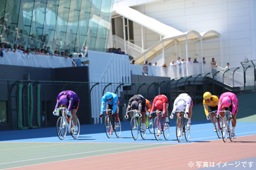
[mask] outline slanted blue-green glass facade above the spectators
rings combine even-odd
[[[114,0],[1,0],[1,41],[25,48],[105,52]]]

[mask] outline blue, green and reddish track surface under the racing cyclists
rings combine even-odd
[[[0,169],[199,169],[210,162],[215,167],[207,169],[255,169],[255,113],[247,113],[242,105],[243,98],[254,95],[238,98],[240,117],[233,142],[218,139],[209,121],[196,121],[197,116],[205,120],[203,108],[198,106],[193,109],[189,142],[184,138],[177,141],[174,120],[170,121],[169,139],[162,135],[159,141],[149,131],[146,140],[139,136],[134,141],[130,122],[122,122],[119,139],[115,134],[108,139],[103,124],[82,125],[76,140],[70,134],[59,140],[55,128],[2,131]]]

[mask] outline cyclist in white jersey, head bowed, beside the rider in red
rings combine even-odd
[[[170,118],[173,118],[173,114],[175,111],[185,111],[185,118],[188,118],[188,124],[187,127],[189,128],[191,126],[191,116],[192,116],[192,107],[193,107],[193,101],[191,97],[188,94],[180,94],[173,103],[173,109],[172,114]],[[180,114],[177,113],[177,117],[179,117]],[[181,115],[181,118],[183,115]],[[181,129],[179,128],[178,136],[181,135]]]

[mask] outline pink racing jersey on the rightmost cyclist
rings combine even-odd
[[[232,105],[232,114],[234,115],[235,112],[237,113],[237,110],[238,110],[238,100],[237,100],[237,97],[235,94],[233,94],[232,92],[225,92],[223,93],[221,96],[220,96],[220,99],[219,99],[219,105],[218,105],[218,112],[221,111],[221,108],[222,108],[222,99],[224,97],[228,96],[230,99],[231,99],[231,105]]]

